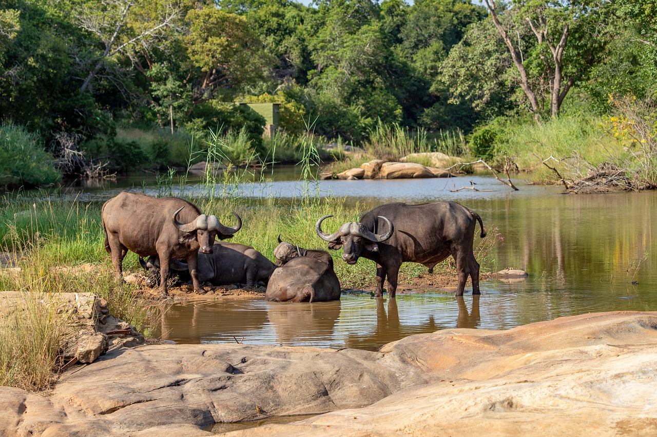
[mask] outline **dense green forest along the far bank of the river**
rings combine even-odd
[[[217,135],[262,160],[240,102],[279,103],[292,143],[394,126],[490,156],[509,125],[567,116],[641,144],[656,44],[655,0],[0,0],[0,161],[39,184],[180,164]]]

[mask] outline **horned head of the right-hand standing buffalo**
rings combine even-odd
[[[378,216],[388,224],[388,232],[385,234],[374,234],[371,230],[367,229],[363,224],[359,222],[349,222],[340,226],[333,234],[327,234],[322,230],[322,222],[328,217],[333,217],[332,215],[325,215],[324,217],[317,220],[315,224],[315,232],[319,238],[328,241],[328,249],[340,249],[344,246],[344,253],[342,254],[342,259],[344,259],[348,264],[355,264],[360,257],[363,249],[371,252],[378,251],[377,243],[382,243],[386,239],[392,237],[394,232],[394,226],[392,222],[386,217]]]

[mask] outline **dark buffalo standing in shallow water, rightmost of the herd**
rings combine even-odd
[[[355,264],[358,257],[376,262],[375,296],[382,295],[387,275],[390,297],[395,297],[402,262],[419,262],[432,272],[434,266],[449,255],[456,260],[459,274],[456,295],[463,295],[468,274],[472,278],[472,294],[480,294],[479,263],[472,253],[476,221],[482,238],[486,230],[479,215],[463,205],[454,201],[421,205],[389,203],[364,213],[360,222],[343,224],[333,234],[321,229],[328,217],[333,216],[317,220],[317,235],[328,241],[329,249],[344,246],[342,259],[348,264]]]

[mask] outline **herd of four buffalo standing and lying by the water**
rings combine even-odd
[[[327,251],[309,250],[281,241],[271,262],[253,247],[215,241],[231,238],[242,227],[236,214],[233,228],[205,215],[193,203],[181,198],[152,198],[145,194],[122,192],[102,205],[105,249],[112,266],[122,278],[122,261],[128,251],[139,255],[150,276],[147,284],[160,284],[167,294],[171,270],[191,277],[194,291],[202,293],[202,283],[240,284],[267,287],[267,301],[317,302],[340,299],[340,281]],[[479,291],[479,263],[472,243],[476,222],[480,236],[486,236],[482,219],[454,201],[388,203],[367,211],[359,222],[345,223],[336,232],[322,230],[319,218],[315,231],[328,241],[329,249],[344,248],[342,259],[355,264],[359,257],[376,262],[376,291],[381,296],[386,276],[388,293],[395,297],[397,276],[402,262],[418,262],[429,268],[451,255],[459,275],[457,296],[463,295],[468,275],[472,294]],[[159,278],[158,278],[159,276]]]

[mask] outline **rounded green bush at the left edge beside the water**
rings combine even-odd
[[[39,186],[60,178],[36,135],[12,123],[0,125],[0,186]]]

